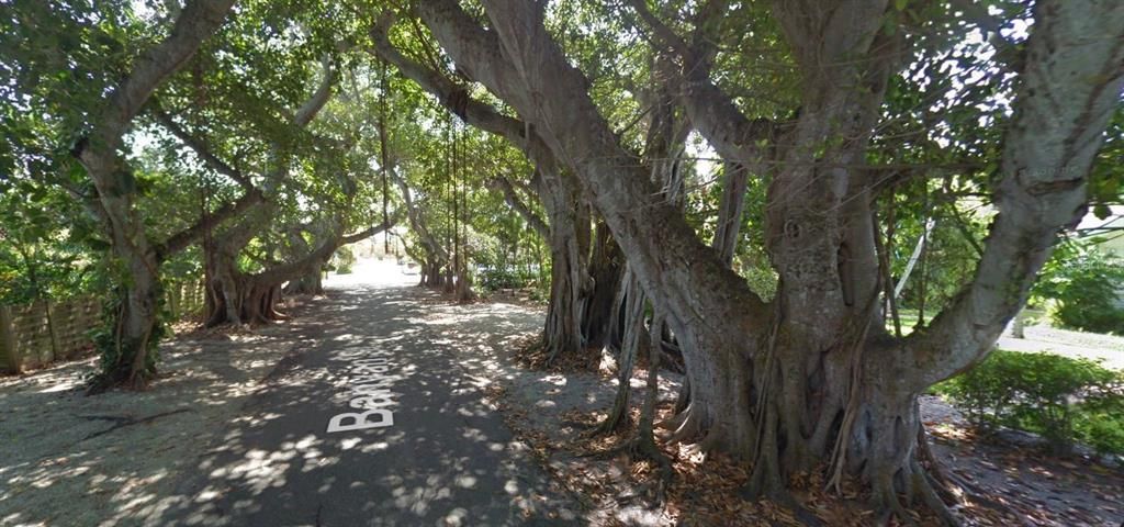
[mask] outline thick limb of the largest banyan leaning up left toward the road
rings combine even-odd
[[[427,0],[418,12],[457,67],[515,107],[581,179],[652,298],[682,327],[698,328],[698,335],[704,328],[718,334],[731,325],[767,324],[760,297],[698,239],[682,215],[658,194],[636,155],[620,146],[589,97],[589,80],[546,31],[542,6],[523,0],[482,3],[492,30],[481,28],[454,0]],[[710,288],[727,294],[697,294]],[[725,329],[714,326],[716,314]]]

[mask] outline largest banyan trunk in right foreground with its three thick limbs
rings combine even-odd
[[[917,394],[987,355],[1059,229],[1084,213],[1089,169],[1124,88],[1124,8],[1035,2],[996,183],[999,213],[973,281],[926,328],[897,339],[877,309],[868,182],[846,169],[865,163],[887,71],[900,56],[892,43],[905,31],[880,30],[885,0],[774,3],[805,87],[797,122],[777,140],[767,230],[781,283],[770,303],[652,198],[543,11],[522,0],[481,3],[490,30],[452,0],[418,12],[459,67],[571,160],[656,311],[687,343],[691,400],[676,436],[752,463],[762,492],[783,496],[792,471],[827,463],[833,483],[859,476],[883,515],[908,520],[899,492],[942,509],[916,457]]]

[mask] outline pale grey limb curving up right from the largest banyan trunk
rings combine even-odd
[[[995,189],[999,213],[976,278],[906,338],[923,387],[986,357],[1025,303],[1059,231],[1085,215],[1089,170],[1124,89],[1124,4],[1042,0],[1034,10]]]

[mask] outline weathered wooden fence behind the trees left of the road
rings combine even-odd
[[[171,285],[165,296],[176,320],[203,307],[202,282]],[[0,306],[0,370],[21,373],[89,355],[93,351],[89,333],[100,318],[101,301],[97,298]]]

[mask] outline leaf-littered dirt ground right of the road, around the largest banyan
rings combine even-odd
[[[743,499],[747,474],[690,447],[663,447],[674,478],[658,483],[659,466],[618,452],[632,430],[589,437],[616,391],[608,371],[549,372],[517,365],[516,353],[541,329],[542,310],[491,302],[435,306],[432,315],[448,324],[462,364],[477,382],[489,384],[497,408],[536,457],[572,492],[581,496],[589,525],[799,525],[781,507]],[[456,328],[455,330],[453,328]],[[606,362],[611,361],[605,361]],[[632,379],[633,406],[643,399],[646,372]],[[660,412],[670,416],[681,378],[661,374]],[[957,509],[966,525],[1082,526],[1124,521],[1124,473],[1081,457],[1043,455],[1034,446],[977,437],[959,412],[935,397],[922,398],[933,434],[933,452],[944,466],[968,480],[987,500]],[[634,411],[635,412],[635,411]],[[826,525],[867,525],[864,497],[824,492],[814,474],[797,476],[800,500]],[[934,518],[916,518],[928,525]]]

